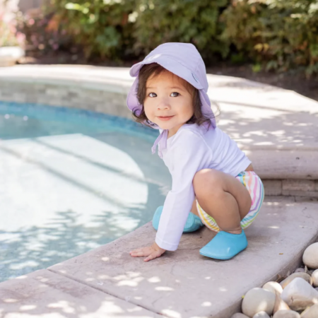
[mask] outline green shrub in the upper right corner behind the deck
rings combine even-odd
[[[318,73],[316,0],[234,0],[223,12],[221,36],[241,57],[266,70]]]

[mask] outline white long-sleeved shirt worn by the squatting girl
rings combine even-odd
[[[210,168],[236,177],[251,161],[219,128],[207,131],[197,124],[184,124],[167,139],[162,153],[172,175],[172,189],[165,199],[155,242],[175,251],[195,198],[192,180],[196,172]]]

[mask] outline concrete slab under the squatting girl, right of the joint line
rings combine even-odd
[[[165,317],[227,318],[240,310],[250,288],[295,269],[317,233],[317,204],[267,198],[246,230],[249,246],[229,261],[199,254],[214,236],[207,228],[183,235],[176,252],[147,263],[132,259],[131,249],[153,243],[155,230],[147,223],[49,270]]]

